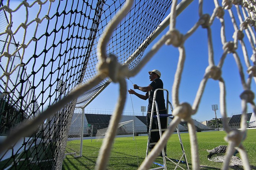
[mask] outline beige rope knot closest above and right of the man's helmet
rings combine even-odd
[[[166,45],[173,44],[174,47],[180,47],[181,45],[183,45],[183,34],[180,34],[178,30],[169,30],[167,32],[167,35],[169,35],[170,38],[165,42]]]

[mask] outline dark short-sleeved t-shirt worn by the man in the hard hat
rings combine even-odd
[[[156,78],[151,82],[150,86],[153,89],[150,90],[149,92],[147,92],[148,93],[148,112],[149,113],[151,113],[152,102],[153,102],[155,89],[163,89],[164,84],[163,84],[163,81],[160,78]],[[165,114],[166,113],[166,108],[165,108],[164,91],[163,90],[158,90],[157,91],[155,101],[157,102],[159,113]],[[154,112],[155,111],[156,111],[156,109],[154,107]],[[154,113],[154,114],[156,114],[156,113]]]

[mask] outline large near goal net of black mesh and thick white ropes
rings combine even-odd
[[[86,107],[115,82],[120,85],[120,95],[96,163],[96,169],[105,169],[126,101],[125,78],[137,75],[166,45],[172,57],[178,58],[171,100],[174,119],[140,169],[150,169],[180,121],[187,121],[192,169],[199,169],[191,116],[198,112],[206,84],[212,80],[218,83],[220,113],[229,143],[223,169],[229,168],[234,147],[239,147],[243,155],[243,168],[250,169],[242,142],[247,108],[250,106],[256,113],[252,88],[256,82],[256,0],[194,0],[197,7],[189,12],[197,17],[179,23],[178,15],[192,1],[0,1],[1,168],[62,169],[75,107]],[[167,11],[170,15],[161,23]],[[165,26],[169,30],[147,48]],[[199,41],[203,45],[195,50]],[[188,52],[188,48],[192,50]],[[197,57],[199,64],[202,59],[207,62],[197,67],[203,68],[202,79],[195,88],[190,86],[190,91],[195,92],[190,101],[181,97],[181,82],[186,79],[182,74],[191,66],[187,63]],[[233,70],[223,70],[224,62],[231,59],[237,75]],[[189,67],[187,71],[195,69]],[[229,86],[225,79],[230,75],[239,77],[242,89],[236,96],[241,100],[242,130],[228,126]]]

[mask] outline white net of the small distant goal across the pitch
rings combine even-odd
[[[98,129],[95,140],[104,139],[109,128]],[[134,120],[118,123],[116,137],[134,137]]]

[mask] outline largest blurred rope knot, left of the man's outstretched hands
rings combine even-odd
[[[118,79],[125,76],[125,72],[129,71],[127,65],[121,65],[116,56],[110,54],[105,61],[99,62],[98,70],[109,76],[109,78],[114,82],[118,82]]]

